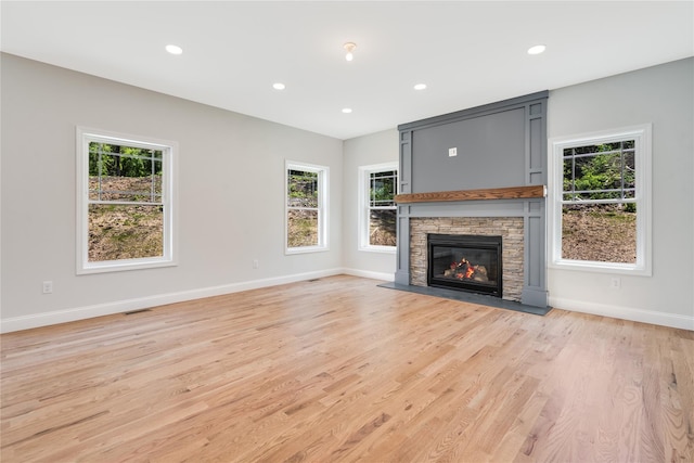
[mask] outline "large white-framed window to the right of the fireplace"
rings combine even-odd
[[[651,274],[651,126],[552,140],[552,265]]]

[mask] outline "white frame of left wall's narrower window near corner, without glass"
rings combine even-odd
[[[318,173],[318,245],[316,246],[288,246],[288,231],[290,231],[290,209],[287,202],[288,184],[290,184],[290,170],[303,170],[307,172]],[[330,195],[330,168],[327,166],[319,166],[316,164],[307,164],[295,160],[284,162],[284,253],[291,254],[306,254],[306,253],[320,253],[329,250],[329,207]]]

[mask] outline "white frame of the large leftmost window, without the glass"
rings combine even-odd
[[[124,144],[133,147],[162,151],[162,207],[164,209],[164,249],[160,257],[89,261],[89,143]],[[177,220],[177,169],[178,143],[150,137],[118,133],[107,130],[77,126],[77,223],[76,223],[76,272],[77,274],[115,272],[178,265]],[[127,204],[127,203],[118,203]]]

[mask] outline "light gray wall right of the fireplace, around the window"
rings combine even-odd
[[[550,268],[552,305],[694,330],[694,59],[553,90],[548,112],[550,138],[653,124],[653,276]]]

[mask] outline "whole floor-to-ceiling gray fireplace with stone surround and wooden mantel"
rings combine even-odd
[[[462,285],[503,300],[548,307],[548,95],[532,93],[398,126],[396,284]],[[489,252],[486,237],[476,242],[481,246],[463,245],[464,254],[454,250],[458,244],[429,252],[428,234],[501,236],[503,253],[501,247],[496,252],[503,255],[471,254],[470,247]],[[488,281],[481,274],[476,280],[446,274],[462,267],[463,259],[462,265],[483,266]]]

